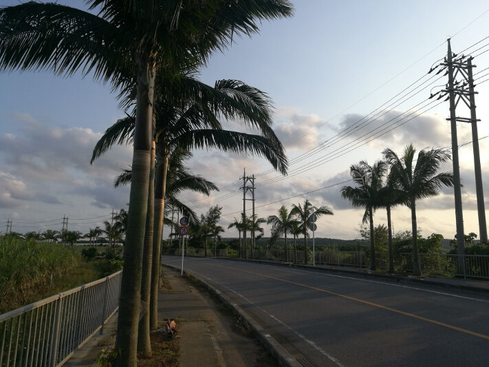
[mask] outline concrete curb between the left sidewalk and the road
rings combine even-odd
[[[169,269],[177,270],[180,271],[180,268],[177,266],[171,266],[168,264],[162,264],[166,266]],[[217,289],[214,289],[213,286],[208,284],[205,280],[200,279],[197,277],[195,274],[193,274],[191,271],[185,271],[184,270],[184,275],[186,277],[191,277],[192,279],[197,280],[200,284],[202,284],[212,295],[217,297],[219,301],[221,301],[226,308],[230,309],[232,313],[237,315],[239,317],[239,320],[243,322],[248,328],[250,328],[254,335],[259,339],[259,341],[265,346],[265,348],[274,356],[276,357],[277,361],[279,361],[279,364],[284,367],[301,367],[301,364],[298,363],[298,361],[292,357],[292,355],[283,348],[276,340],[270,336],[269,334],[265,333],[263,328],[254,321],[254,319],[246,313],[246,311],[243,311],[241,307],[239,307],[237,304],[232,304],[230,300],[228,300],[222,293],[221,291],[218,291]]]

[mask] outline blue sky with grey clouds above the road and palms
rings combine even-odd
[[[83,1],[58,2],[86,9]],[[357,238],[363,210],[340,196],[343,185],[353,185],[345,182],[350,165],[360,160],[373,164],[386,147],[401,154],[409,143],[418,151],[451,146],[448,102],[426,105],[433,101],[426,101],[430,93],[448,81],[444,73],[426,73],[442,62],[450,37],[453,52],[469,48],[466,53],[476,56],[481,167],[489,192],[486,1],[472,0],[470,6],[451,0],[292,2],[294,17],[265,21],[259,34],[235,39],[224,53],[213,55],[199,76],[209,85],[237,79],[273,99],[274,131],[286,149],[289,174],[271,172],[256,156],[195,151],[189,168],[221,191],[208,198],[185,192],[183,202],[198,214],[220,205],[219,224],[227,229],[243,209],[239,179],[246,169],[247,176],[255,176],[259,217],[307,199],[334,212],[318,220],[317,237]],[[17,3],[0,0],[0,6]],[[60,230],[67,216],[70,230],[85,233],[110,220],[112,209],[127,209],[129,187],[113,188],[113,178],[131,164],[132,148],[115,147],[89,164],[102,133],[124,116],[109,85],[90,76],[0,72],[0,231],[8,220],[12,231],[21,233]],[[463,103],[457,116],[470,116]],[[352,127],[360,122],[361,129]],[[243,129],[239,121],[225,125]],[[458,123],[457,130],[459,145],[469,143],[459,149],[464,229],[479,233],[470,126]],[[452,169],[451,163],[442,167]],[[488,204],[486,200],[486,209]],[[250,214],[251,202],[246,205]],[[453,189],[420,200],[417,224],[422,235],[453,238],[454,208]],[[396,207],[392,220],[395,232],[411,229],[409,209]],[[376,212],[374,223],[387,224],[384,211]],[[237,237],[237,232],[228,229],[224,237]]]

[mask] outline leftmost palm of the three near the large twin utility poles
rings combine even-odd
[[[376,161],[370,166],[365,160],[358,165],[350,166],[351,178],[356,187],[343,186],[341,196],[351,201],[354,207],[365,207],[362,223],[370,222],[370,269],[376,270],[376,249],[373,236],[373,212],[380,206],[382,195],[382,179],[387,171],[387,164],[383,160]]]

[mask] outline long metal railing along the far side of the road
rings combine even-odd
[[[304,262],[304,251],[287,250],[253,250],[253,259],[276,260],[294,262],[297,257],[298,263]],[[180,249],[170,249],[169,255],[181,255]],[[204,249],[187,249],[187,255],[204,256]],[[214,250],[207,250],[208,257],[214,257]],[[489,255],[456,255],[456,254],[437,254],[420,253],[420,268],[426,275],[459,275],[475,277],[489,280]],[[230,255],[227,249],[217,250],[217,257],[237,257],[237,254]],[[251,250],[248,250],[247,258],[251,259]],[[309,253],[312,262],[312,254]],[[358,268],[369,268],[370,258],[363,251],[316,251],[316,264],[332,266],[351,266]],[[464,261],[465,260],[465,261]],[[464,266],[465,264],[465,273]],[[376,268],[381,270],[389,269],[389,254],[376,253]],[[394,268],[398,272],[413,271],[413,254],[401,253],[394,257]]]

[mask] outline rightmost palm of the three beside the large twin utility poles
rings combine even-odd
[[[437,196],[442,187],[453,187],[453,174],[442,172],[437,174],[439,166],[448,162],[451,157],[448,149],[423,149],[417,154],[413,145],[408,145],[401,157],[392,149],[384,149],[382,154],[391,167],[391,180],[396,188],[406,195],[405,205],[411,209],[411,230],[413,235],[413,273],[421,275],[417,255],[417,220],[416,200]]]

